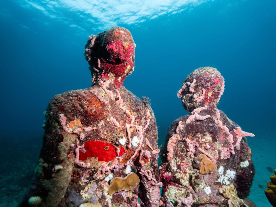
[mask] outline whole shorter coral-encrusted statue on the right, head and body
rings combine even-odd
[[[211,67],[198,68],[177,96],[189,112],[175,120],[162,150],[163,206],[247,206],[255,168],[247,133],[216,108],[224,78]]]

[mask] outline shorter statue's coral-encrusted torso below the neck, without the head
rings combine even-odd
[[[235,145],[237,136],[234,129],[239,126],[229,120],[222,111],[219,112],[220,120],[233,135],[233,145]],[[186,124],[190,115],[175,120],[166,137],[164,149],[168,149],[169,143],[175,143],[171,161],[168,161],[168,155],[165,155],[160,170],[163,182],[162,196],[167,201],[166,206],[177,204],[177,200],[185,198],[189,193],[194,200],[198,200],[196,202],[198,205],[228,206],[224,191],[231,191],[232,196],[236,196],[232,199],[239,201],[239,204],[233,206],[242,206],[243,202],[239,198],[248,196],[255,173],[246,138],[241,140],[239,147],[235,147],[235,155],[233,155],[229,148],[227,134],[215,122],[217,119],[215,110],[202,110],[199,115],[210,115],[210,118]],[[177,127],[181,121],[183,129],[177,134]],[[176,134],[180,139],[173,141],[171,137]],[[188,140],[186,141],[185,138]],[[190,156],[187,143],[193,147],[193,156]],[[203,151],[207,156],[202,156]],[[241,166],[241,163],[245,164]],[[235,193],[236,190],[237,193]],[[173,193],[174,191],[177,193]]]

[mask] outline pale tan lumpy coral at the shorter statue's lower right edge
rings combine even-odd
[[[223,185],[218,188],[218,192],[228,200],[229,207],[240,207],[244,205],[244,201],[237,195],[234,185]]]

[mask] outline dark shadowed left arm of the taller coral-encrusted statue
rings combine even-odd
[[[60,122],[61,95],[55,96],[45,112],[45,133],[35,177],[20,206],[28,206],[32,199],[40,199],[40,206],[58,206],[71,179],[74,159],[67,157],[75,134],[66,133]],[[66,116],[66,114],[64,115]],[[65,121],[68,124],[68,121]]]

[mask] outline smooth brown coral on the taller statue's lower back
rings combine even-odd
[[[111,180],[108,193],[113,195],[116,192],[134,189],[140,182],[139,177],[135,173],[130,173],[127,177],[116,177]]]

